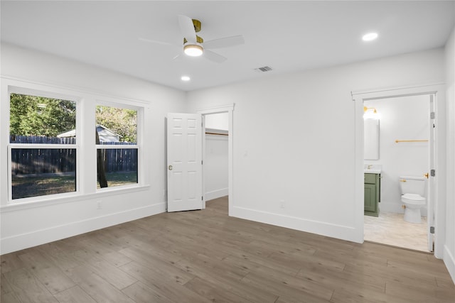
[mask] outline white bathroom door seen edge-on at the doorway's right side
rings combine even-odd
[[[436,167],[436,104],[434,95],[429,95],[429,169],[428,194],[427,194],[427,224],[428,224],[428,250],[434,250],[434,202],[436,201],[436,175],[433,173]]]

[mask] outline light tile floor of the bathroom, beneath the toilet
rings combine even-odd
[[[427,217],[421,224],[408,223],[403,214],[382,211],[379,217],[364,217],[365,241],[428,252]]]

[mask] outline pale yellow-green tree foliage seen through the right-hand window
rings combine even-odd
[[[97,106],[96,123],[120,135],[122,142],[137,142],[137,111],[112,106]]]

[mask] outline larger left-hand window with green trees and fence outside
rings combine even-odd
[[[76,101],[9,97],[9,199],[76,192]]]

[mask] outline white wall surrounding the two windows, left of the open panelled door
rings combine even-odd
[[[55,241],[97,228],[119,224],[166,209],[165,117],[186,111],[186,95],[176,89],[151,84],[127,75],[65,60],[13,45],[1,45],[0,202],[1,253]],[[21,81],[17,82],[19,79]],[[92,149],[95,127],[82,126],[80,142],[82,195],[46,199],[28,205],[7,202],[6,141],[9,97],[6,84],[54,89],[82,97],[78,114],[95,119],[97,100],[119,100],[144,106],[141,152],[142,186],[110,193],[96,192],[96,157]],[[90,120],[90,119],[88,119]],[[102,209],[97,209],[97,202]]]

